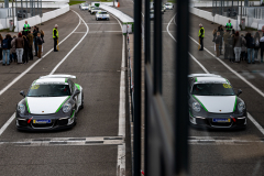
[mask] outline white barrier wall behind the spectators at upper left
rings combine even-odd
[[[16,25],[15,25],[15,29],[14,29],[14,32],[20,32],[20,31],[23,31],[23,25],[24,25],[24,22],[28,21],[29,24],[31,26],[33,25],[36,25],[36,24],[40,24],[41,22],[46,22],[48,20],[52,20],[54,18],[57,18],[58,15],[62,15],[66,12],[69,11],[69,6],[68,4],[65,4],[63,8],[61,9],[57,9],[57,10],[54,10],[54,11],[50,11],[50,12],[46,12],[46,13],[43,13],[43,18],[41,19],[40,15],[35,15],[35,16],[32,16],[32,18],[29,18],[29,19],[24,19],[22,21],[18,21],[16,22]]]

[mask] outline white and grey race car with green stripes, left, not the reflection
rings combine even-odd
[[[72,128],[84,108],[84,90],[73,75],[47,75],[34,80],[16,105],[18,130],[43,131]]]

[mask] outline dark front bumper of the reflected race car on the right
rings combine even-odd
[[[216,120],[228,120],[227,122],[217,122]],[[241,116],[233,113],[220,114],[209,113],[207,117],[197,117],[189,113],[189,121],[193,127],[207,129],[243,129],[246,127],[246,112]]]

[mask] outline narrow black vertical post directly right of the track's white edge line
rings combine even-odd
[[[141,10],[134,1],[134,176],[141,175]]]

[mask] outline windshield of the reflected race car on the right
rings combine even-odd
[[[234,96],[233,88],[228,84],[196,84],[193,87],[196,96]]]

